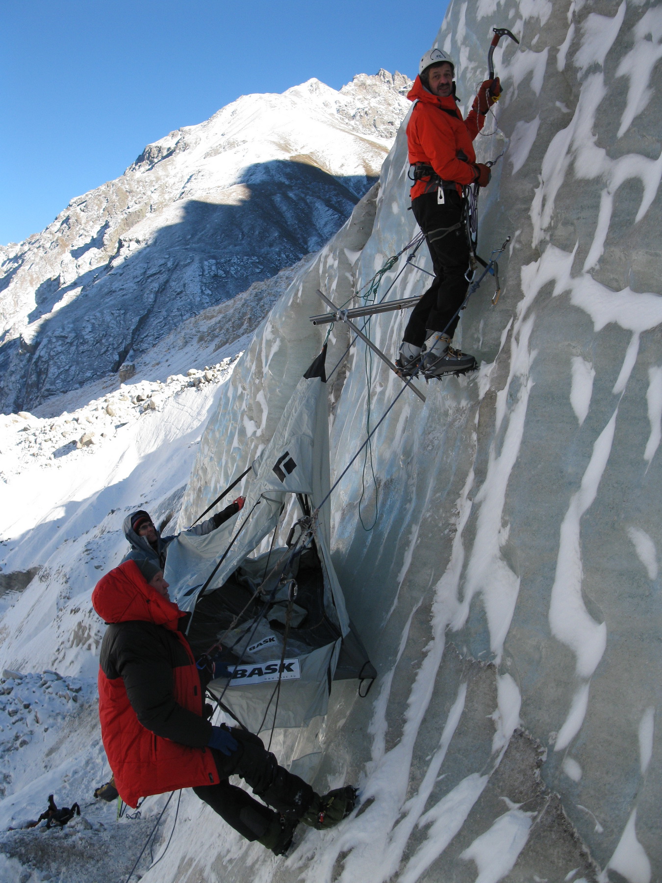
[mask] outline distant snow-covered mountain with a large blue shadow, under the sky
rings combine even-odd
[[[409,85],[380,71],[339,92],[311,79],[244,95],[1,247],[0,408],[34,409],[132,366],[189,317],[319,249],[379,175]]]

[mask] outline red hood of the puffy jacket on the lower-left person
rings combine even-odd
[[[99,580],[92,606],[106,623],[143,620],[173,631],[186,615],[147,583],[134,561],[125,561]]]

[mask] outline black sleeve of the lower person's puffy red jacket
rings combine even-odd
[[[115,668],[124,680],[129,702],[143,727],[192,748],[203,748],[212,736],[212,726],[205,718],[180,706],[173,695],[174,666],[191,665],[177,638],[151,623],[135,624],[142,632],[124,634],[115,647]],[[125,632],[133,631],[124,629]],[[181,659],[179,658],[181,657]],[[202,690],[200,684],[198,689]]]

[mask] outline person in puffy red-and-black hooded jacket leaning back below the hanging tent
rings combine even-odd
[[[290,846],[299,821],[327,828],[354,807],[351,787],[317,795],[278,766],[258,736],[213,726],[204,692],[213,668],[193,658],[184,637],[190,614],[169,600],[168,583],[153,560],[126,561],[110,570],[92,594],[109,623],[99,668],[103,747],[119,795],[139,798],[192,788],[247,840],[276,855]],[[239,775],[265,804],[229,784]]]

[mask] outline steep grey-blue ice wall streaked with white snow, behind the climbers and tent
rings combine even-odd
[[[367,700],[334,687],[314,783],[357,781],[365,806],[276,864],[233,835],[209,842],[219,823],[199,815],[206,845],[193,856],[180,834],[169,860],[186,879],[662,878],[662,8],[455,0],[436,45],[465,111],[493,26],[521,46],[494,54],[505,93],[478,137],[479,159],[506,148],[479,251],[512,237],[498,305],[485,283],[456,337],[480,369],[431,383],[425,405],[405,391],[375,437],[375,479],[359,457],[332,498],[335,567],[380,680]],[[402,127],[372,233],[371,194],[224,389],[184,520],[267,442],[325,331],[307,323],[314,289],[342,303],[415,232],[406,172]],[[388,298],[425,279],[406,268]],[[405,321],[370,323],[391,358]],[[329,369],[342,328],[330,342]],[[368,404],[374,426],[402,387],[365,358],[353,348],[332,378],[336,475]]]

